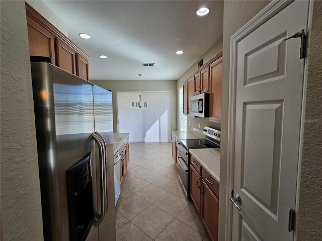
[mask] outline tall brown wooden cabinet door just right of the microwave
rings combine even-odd
[[[221,122],[222,57],[210,65],[209,121]]]

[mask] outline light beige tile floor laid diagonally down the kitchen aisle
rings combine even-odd
[[[210,240],[180,186],[172,143],[130,143],[116,205],[116,240]]]

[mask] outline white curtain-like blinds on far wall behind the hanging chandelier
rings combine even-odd
[[[117,92],[118,132],[130,133],[129,141],[170,141],[170,91],[141,91],[141,102],[147,107],[133,107],[139,92]],[[142,103],[143,105],[143,103]]]

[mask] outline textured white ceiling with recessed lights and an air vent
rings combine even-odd
[[[140,73],[142,80],[177,80],[222,36],[222,1],[44,2],[91,57],[90,79],[137,80]],[[202,6],[210,13],[199,17]]]

